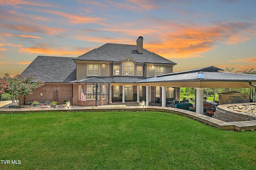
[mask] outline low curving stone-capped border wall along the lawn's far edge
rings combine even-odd
[[[5,105],[6,104],[6,105]],[[4,105],[4,106],[3,106]],[[30,112],[47,112],[47,111],[63,111],[67,112],[67,107],[30,107],[30,108],[21,108],[21,109],[9,109],[8,105],[12,105],[11,102],[0,102],[0,114],[12,114],[12,113],[30,113]],[[107,105],[107,106],[71,106],[69,107],[70,112],[76,111],[162,111],[168,113],[174,113],[178,115],[183,115],[194,120],[198,120],[204,124],[207,124],[212,127],[217,127],[219,129],[229,130],[229,131],[249,131],[256,129],[256,121],[237,121],[237,122],[224,122],[206,115],[199,113],[194,113],[192,111],[186,111],[182,109],[177,109],[173,107],[161,107],[161,106],[129,106],[134,104],[118,104],[118,105]]]

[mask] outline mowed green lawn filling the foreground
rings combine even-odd
[[[0,115],[1,170],[256,169],[256,131],[162,112]]]

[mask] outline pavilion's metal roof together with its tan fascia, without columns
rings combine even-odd
[[[146,86],[171,86],[191,88],[252,88],[256,75],[233,72],[180,72],[141,80]]]

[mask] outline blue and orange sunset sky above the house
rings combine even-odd
[[[256,0],[0,0],[0,16],[0,77],[139,36],[174,72],[256,70]]]

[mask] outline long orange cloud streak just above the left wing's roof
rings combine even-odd
[[[82,55],[84,51],[67,51],[66,49],[49,49],[42,47],[20,48],[19,53],[22,54],[39,54],[39,55],[51,55],[51,56],[63,56],[63,55]]]

